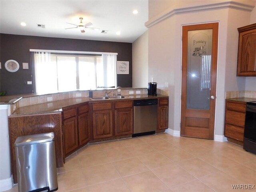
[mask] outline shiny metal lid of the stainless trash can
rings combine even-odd
[[[32,145],[54,141],[54,132],[20,136],[16,139],[14,146]]]

